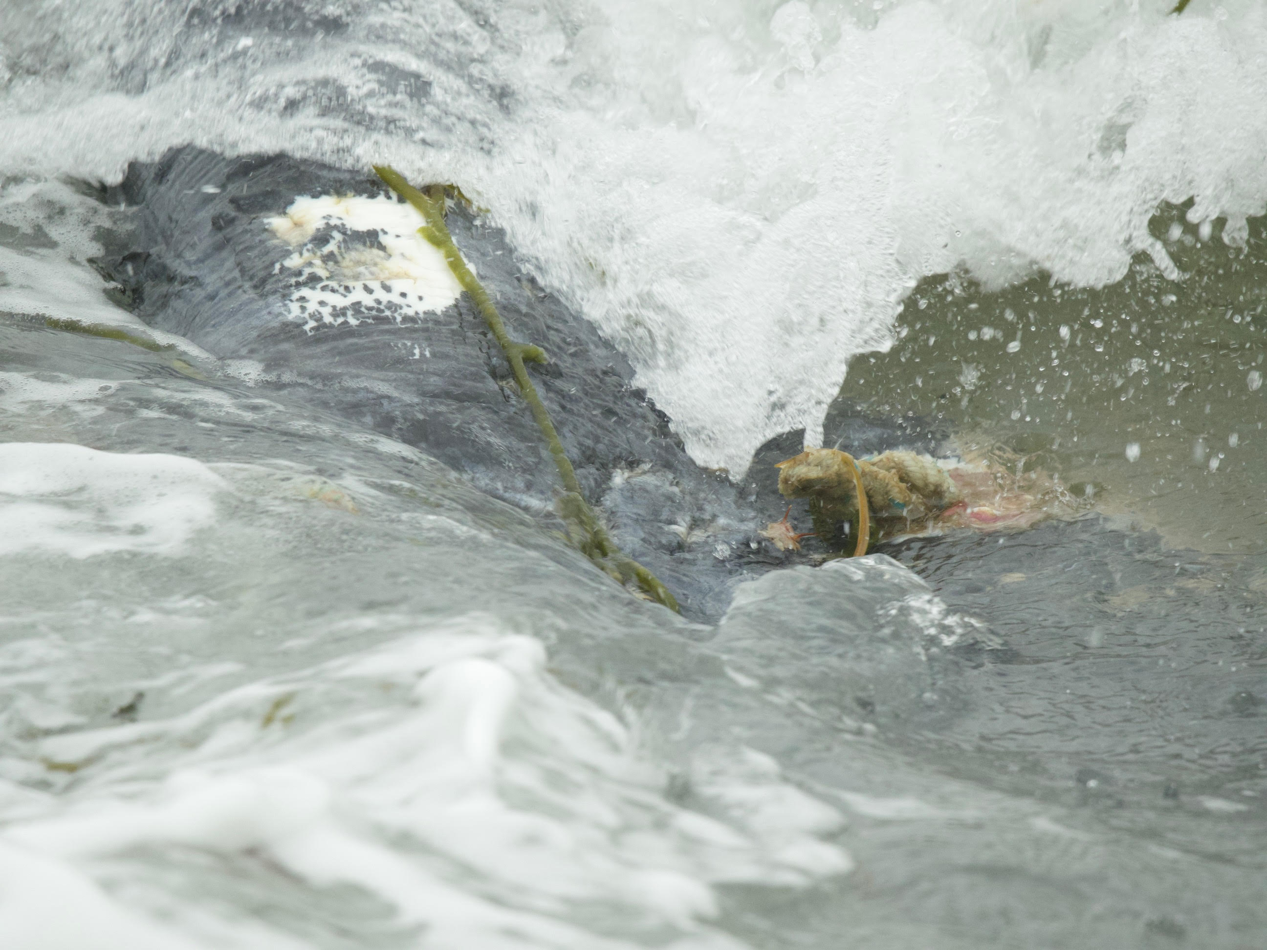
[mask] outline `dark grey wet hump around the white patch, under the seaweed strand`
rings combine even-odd
[[[366,174],[290,156],[227,158],[180,148],[157,162],[134,162],[119,186],[100,195],[124,204],[132,227],[109,238],[96,266],[115,281],[117,303],[238,367],[238,379],[220,375],[209,385],[241,385],[247,375],[258,390],[421,448],[544,527],[566,532],[556,510],[555,459],[470,299],[416,315],[370,288],[375,304],[350,309],[348,320],[305,328],[289,315],[288,300],[302,290],[296,271],[284,265],[294,248],[276,238],[269,219],[303,195],[386,194]],[[688,617],[716,618],[734,584],[808,557],[779,552],[758,533],[787,504],[773,479],[754,489],[760,453],[739,485],[696,465],[668,417],[635,385],[628,361],[526,272],[487,217],[455,203],[446,225],[497,300],[509,338],[532,339],[550,353],[532,383],[574,466],[578,494],[602,512],[612,542],[663,581]],[[378,242],[365,232],[329,237],[348,251]],[[925,448],[930,441],[908,421],[837,415],[832,438],[856,429],[868,451]],[[799,451],[799,433],[772,445],[789,441],[792,450],[777,448],[772,461]]]

